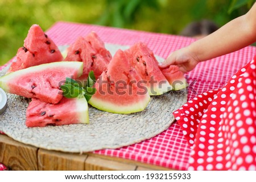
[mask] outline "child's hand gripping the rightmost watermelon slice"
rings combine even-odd
[[[187,73],[196,67],[200,62],[195,54],[189,52],[189,48],[182,48],[171,53],[168,58],[159,64],[159,67],[167,67],[169,65],[179,66],[180,71]]]

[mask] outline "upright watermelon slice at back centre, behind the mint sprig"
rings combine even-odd
[[[79,37],[68,48],[68,55],[65,61],[84,62],[84,71],[79,81],[84,85],[88,78],[89,71],[93,71],[96,79],[108,67],[112,59],[111,54],[106,50],[105,45],[100,37],[94,32],[86,37]]]

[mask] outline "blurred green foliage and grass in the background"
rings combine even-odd
[[[32,24],[100,24],[179,35],[196,20],[219,27],[245,14],[254,0],[0,0],[0,66],[15,56]]]

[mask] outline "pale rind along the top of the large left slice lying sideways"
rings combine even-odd
[[[12,79],[20,77],[20,75],[26,75],[30,73],[36,73],[39,71],[47,70],[47,69],[55,69],[55,68],[63,67],[63,69],[76,69],[79,70],[77,73],[77,77],[82,75],[83,63],[78,61],[60,61],[60,62],[51,62],[48,64],[42,64],[38,66],[31,66],[26,69],[14,71],[11,73],[7,73],[3,77],[0,77],[0,87],[5,91],[9,92],[8,83]]]

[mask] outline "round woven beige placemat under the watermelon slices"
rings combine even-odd
[[[113,54],[127,46],[106,44]],[[158,58],[159,59],[159,58]],[[7,66],[0,72],[6,73]],[[142,112],[119,115],[89,105],[89,124],[27,128],[26,109],[30,99],[7,94],[7,109],[0,116],[0,130],[16,141],[48,150],[83,153],[141,142],[168,129],[175,121],[172,112],[187,101],[184,91],[151,96]]]

